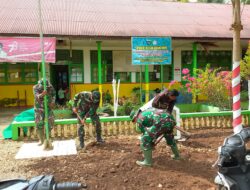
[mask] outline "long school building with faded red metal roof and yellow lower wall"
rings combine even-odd
[[[144,88],[144,67],[131,63],[131,37],[169,36],[172,64],[149,66],[149,88],[181,81],[182,68],[232,67],[232,6],[143,0],[42,0],[45,37],[56,38],[56,63],[46,63],[55,89],[70,95],[99,87],[112,94],[120,79],[119,96]],[[38,4],[33,0],[1,0],[1,37],[39,37]],[[250,39],[250,6],[242,11],[242,55]],[[101,69],[98,68],[101,55]],[[142,73],[142,75],[140,75]],[[142,76],[142,77],[140,77]],[[33,105],[32,87],[39,79],[38,63],[0,63],[0,100],[26,99]]]

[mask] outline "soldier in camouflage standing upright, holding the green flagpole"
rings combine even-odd
[[[37,136],[39,138],[39,146],[44,142],[44,119],[45,119],[45,110],[44,110],[44,96],[47,94],[48,97],[48,126],[49,131],[54,125],[54,114],[52,108],[55,104],[56,92],[53,86],[48,80],[46,80],[46,90],[43,87],[43,79],[38,81],[38,84],[33,86],[34,93],[34,111],[35,111],[35,123],[37,129]],[[48,142],[48,146],[52,148],[51,142]],[[47,145],[45,145],[47,146]],[[46,148],[46,147],[45,147]]]

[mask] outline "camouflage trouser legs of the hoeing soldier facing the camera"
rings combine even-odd
[[[80,112],[79,115],[81,118],[83,118],[83,117],[85,117],[86,113]],[[101,137],[102,129],[101,129],[100,118],[97,114],[91,115],[90,118],[92,120],[92,124],[95,126],[96,139],[97,139],[97,141],[99,141],[102,139],[102,137]],[[79,137],[79,141],[80,141],[80,146],[83,148],[84,147],[85,130],[84,130],[84,125],[81,123],[79,118],[78,118],[78,137]]]

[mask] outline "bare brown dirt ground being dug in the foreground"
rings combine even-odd
[[[88,147],[74,156],[15,160],[22,142],[0,141],[0,179],[53,174],[57,181],[87,183],[88,189],[106,190],[215,190],[213,183],[217,147],[232,129],[190,131],[193,137],[179,142],[182,160],[172,160],[165,142],[153,152],[154,166],[135,164],[142,159],[136,136],[106,138],[104,145]]]

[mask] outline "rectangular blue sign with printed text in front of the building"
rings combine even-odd
[[[133,65],[170,65],[171,37],[132,37]]]

